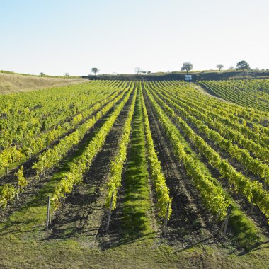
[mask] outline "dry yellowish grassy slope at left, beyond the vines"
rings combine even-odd
[[[55,86],[65,86],[87,82],[88,79],[59,79],[38,76],[22,76],[18,74],[0,73],[0,93],[16,93],[40,90]]]

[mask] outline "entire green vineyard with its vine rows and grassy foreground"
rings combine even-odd
[[[1,95],[0,268],[266,268],[269,81],[198,85]]]

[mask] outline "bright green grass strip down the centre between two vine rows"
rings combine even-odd
[[[149,211],[149,174],[147,172],[141,91],[137,93],[132,120],[130,147],[122,178],[123,203],[121,225],[125,239],[151,234]]]

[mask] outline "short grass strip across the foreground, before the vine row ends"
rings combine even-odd
[[[40,227],[41,228],[41,227]],[[197,244],[181,249],[143,237],[115,248],[91,248],[91,239],[47,240],[46,232],[1,233],[1,268],[266,268],[269,244],[241,255]]]

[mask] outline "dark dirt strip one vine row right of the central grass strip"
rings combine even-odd
[[[173,156],[172,147],[164,136],[164,130],[156,119],[146,94],[144,98],[156,151],[170,195],[173,197],[173,212],[168,221],[168,239],[175,244],[179,241],[183,247],[198,242],[212,244],[219,227],[202,206],[198,192],[186,176],[185,169]]]

